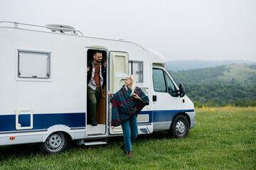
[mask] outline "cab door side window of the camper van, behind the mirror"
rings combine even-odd
[[[153,69],[154,91],[166,92],[164,71],[162,69]]]

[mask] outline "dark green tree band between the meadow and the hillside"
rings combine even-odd
[[[256,106],[256,85],[185,84],[186,95],[195,107]]]

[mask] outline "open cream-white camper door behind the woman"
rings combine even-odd
[[[128,58],[127,52],[110,52],[110,91],[112,94],[119,91],[124,85],[124,80],[128,76]],[[110,106],[111,108],[111,106]],[[111,113],[109,113],[110,134],[122,134],[121,125],[118,127],[111,126]]]

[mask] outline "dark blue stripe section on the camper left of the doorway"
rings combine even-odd
[[[21,127],[30,126],[30,115],[18,116]],[[70,128],[85,127],[85,113],[34,114],[33,129],[48,129],[53,125],[66,125]],[[0,115],[0,132],[16,130],[16,115]],[[21,131],[21,130],[18,130]]]

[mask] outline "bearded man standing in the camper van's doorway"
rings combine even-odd
[[[102,52],[95,50],[93,52],[93,60],[87,63],[87,96],[90,107],[90,118],[92,126],[97,126],[96,122],[96,106],[100,98],[100,91],[105,77],[105,69],[107,62],[102,62]]]

